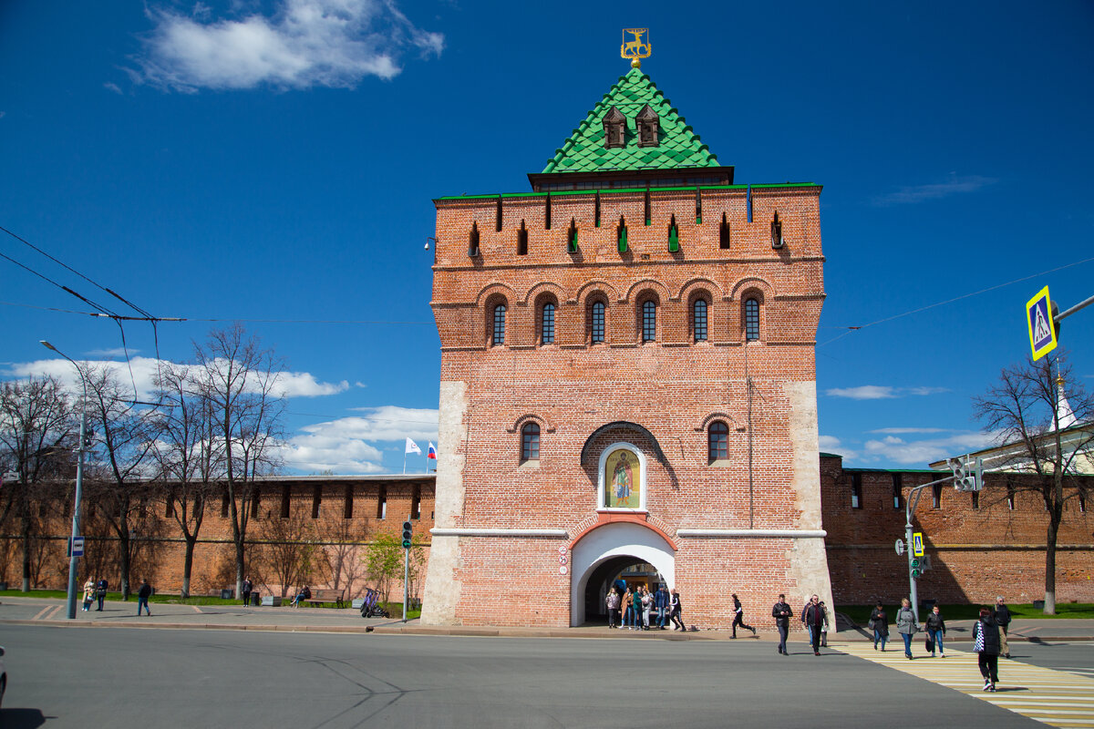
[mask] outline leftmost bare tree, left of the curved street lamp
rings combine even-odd
[[[0,491],[0,522],[14,509],[23,546],[23,591],[31,589],[31,502],[36,484],[68,472],[74,438],[74,420],[68,398],[57,379],[30,377],[0,387],[0,467],[19,478]]]

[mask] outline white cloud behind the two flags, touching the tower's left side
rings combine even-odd
[[[403,452],[405,438],[414,438],[424,450],[428,442],[437,443],[439,414],[422,410],[385,405],[361,408],[366,415],[339,418],[307,425],[301,434],[281,448],[284,465],[301,471],[335,473],[380,473],[385,470],[382,449],[374,444],[394,442]],[[411,456],[414,468],[422,466],[421,456]]]

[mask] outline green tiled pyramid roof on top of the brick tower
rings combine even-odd
[[[661,128],[657,146],[639,146],[635,117],[647,104],[656,111]],[[615,106],[627,117],[627,145],[604,146],[604,116]],[[608,90],[582,120],[544,173],[673,169],[718,167],[699,136],[691,131],[673,105],[641,69],[631,69]]]

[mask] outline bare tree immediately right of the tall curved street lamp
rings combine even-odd
[[[147,509],[152,496],[148,475],[152,451],[151,411],[135,402],[136,393],[124,386],[109,366],[89,366],[88,423],[92,440],[92,479],[89,497],[94,498],[104,520],[118,539],[121,597],[129,599],[130,569],[136,537],[151,536]],[[148,543],[148,542],[146,542]]]

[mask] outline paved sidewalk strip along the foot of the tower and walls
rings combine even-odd
[[[604,625],[581,627],[512,627],[512,626],[438,626],[422,625],[417,620],[404,624],[387,618],[364,619],[351,608],[252,608],[244,605],[183,605],[153,603],[151,616],[137,616],[137,600],[107,601],[103,612],[80,610],[75,620],[68,620],[65,600],[4,597],[0,598],[0,624],[51,625],[56,627],[142,627],[142,628],[205,628],[237,631],[283,631],[324,633],[377,633],[398,635],[466,635],[514,637],[567,638],[633,638],[667,640],[730,640],[729,631],[625,631],[608,630]],[[829,633],[831,642],[872,642],[864,628],[848,626],[840,618],[838,633]],[[973,621],[946,623],[946,643],[971,640]],[[738,640],[779,639],[773,625],[761,626],[753,636],[738,631]],[[1094,640],[1094,620],[1019,620],[1010,626],[1011,640],[1054,642]],[[899,642],[895,627],[889,627],[891,639]],[[921,635],[917,637],[922,637]],[[791,634],[795,643],[804,642],[802,632]]]

